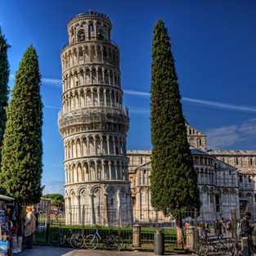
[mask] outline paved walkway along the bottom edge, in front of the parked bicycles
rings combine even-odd
[[[13,254],[14,256],[153,256],[155,255],[153,252],[130,252],[130,251],[112,251],[112,250],[105,250],[105,249],[71,249],[71,248],[52,248],[49,246],[33,246],[33,249],[23,249],[22,253]],[[166,253],[164,255],[177,255],[177,254],[170,254]],[[178,256],[184,256],[182,254],[178,254]],[[189,256],[186,254],[186,256]]]

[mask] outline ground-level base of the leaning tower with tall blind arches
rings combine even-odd
[[[130,182],[65,185],[65,223],[128,227],[133,222]]]

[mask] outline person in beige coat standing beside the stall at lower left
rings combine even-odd
[[[26,249],[32,249],[32,243],[33,243],[33,234],[36,231],[36,218],[34,214],[32,213],[32,207],[27,206],[26,207],[26,218],[25,218],[25,237],[27,238],[27,246]]]

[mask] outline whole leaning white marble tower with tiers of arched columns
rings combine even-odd
[[[62,102],[58,124],[65,148],[67,224],[132,222],[119,48],[108,16],[83,12],[67,25],[61,52]]]

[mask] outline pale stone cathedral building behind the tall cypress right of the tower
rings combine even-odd
[[[256,201],[256,151],[207,150],[207,135],[186,122],[187,140],[200,189],[201,218],[231,218],[245,211],[254,212]],[[151,150],[128,150],[129,177],[132,182],[134,218],[150,222]]]

